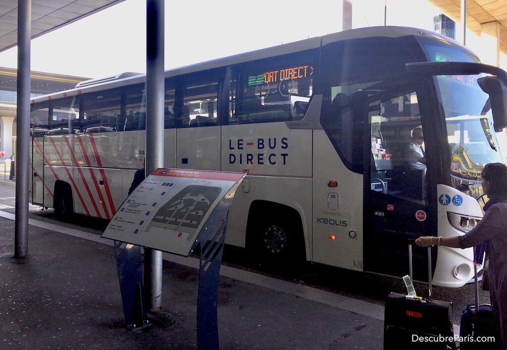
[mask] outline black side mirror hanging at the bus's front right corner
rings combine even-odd
[[[507,87],[497,77],[488,76],[477,80],[481,89],[489,95],[493,127],[496,132],[507,127]]]

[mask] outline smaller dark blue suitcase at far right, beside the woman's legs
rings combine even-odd
[[[490,304],[479,305],[479,283],[477,281],[477,265],[474,263],[475,271],[475,305],[467,305],[461,314],[461,325],[459,327],[461,350],[467,349],[500,349],[501,341],[493,318],[493,310]],[[479,310],[479,311],[477,311]],[[477,337],[494,337],[478,342]],[[485,341],[484,341],[485,340]]]

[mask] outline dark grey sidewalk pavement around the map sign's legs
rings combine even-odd
[[[197,259],[164,254],[162,307],[175,322],[130,332],[112,241],[30,220],[28,258],[15,260],[13,217],[0,212],[0,348],[196,348]],[[218,299],[220,348],[383,346],[380,305],[227,266]]]

